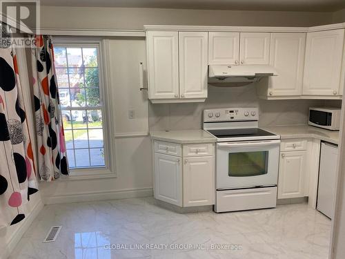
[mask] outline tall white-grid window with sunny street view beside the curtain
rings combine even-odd
[[[70,169],[105,167],[99,44],[54,48]]]

